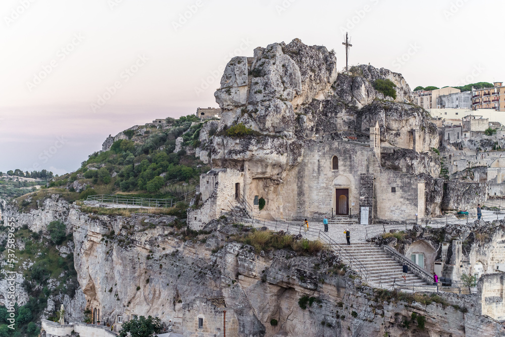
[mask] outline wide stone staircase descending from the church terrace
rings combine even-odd
[[[412,286],[419,287],[427,285],[423,279],[411,271],[407,274],[407,281],[404,281],[401,277],[402,265],[377,246],[365,243],[352,244],[351,246],[340,244],[340,246],[342,246],[345,252],[349,253],[340,254],[342,262],[350,265],[351,268],[358,273],[360,266],[363,265],[369,272],[366,281],[371,286],[389,288],[393,285],[394,278],[396,278],[395,288],[405,287],[408,290],[408,288]],[[337,252],[338,249],[339,247],[336,246],[335,250]],[[352,255],[353,258],[350,258],[348,255]],[[359,261],[361,265],[356,263],[356,261]]]

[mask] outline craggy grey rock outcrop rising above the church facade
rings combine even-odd
[[[377,80],[391,81],[396,98],[376,90]],[[426,111],[411,104],[410,87],[400,74],[365,65],[337,73],[332,52],[299,39],[259,47],[251,58],[233,58],[215,96],[223,109],[218,131],[242,123],[262,135],[229,139],[200,133],[200,159],[216,167],[273,161],[286,170],[317,137],[368,141],[376,122],[383,146],[412,149],[412,130],[421,151],[438,146],[437,128]]]

